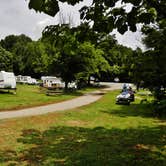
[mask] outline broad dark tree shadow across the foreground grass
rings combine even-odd
[[[94,129],[52,127],[23,130],[20,152],[1,151],[0,163],[30,166],[128,166],[166,164],[166,127]]]

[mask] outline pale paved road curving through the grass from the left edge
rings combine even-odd
[[[102,83],[102,85],[107,85],[107,88],[104,88],[102,90],[98,90],[95,92],[87,93],[83,96],[74,98],[72,100],[55,103],[55,104],[49,104],[46,106],[26,108],[26,109],[21,109],[21,110],[17,110],[17,111],[0,112],[0,119],[35,116],[35,115],[46,114],[49,112],[73,109],[73,108],[84,106],[84,105],[97,101],[98,99],[100,99],[103,96],[103,94],[106,91],[120,89],[122,87],[122,84],[120,84],[120,83],[116,83],[116,84],[115,83]]]

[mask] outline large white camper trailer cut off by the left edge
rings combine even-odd
[[[0,72],[0,89],[16,89],[16,79],[12,72]]]

